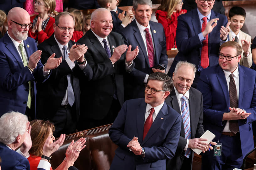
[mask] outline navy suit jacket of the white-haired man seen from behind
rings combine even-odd
[[[0,157],[2,158],[1,168],[3,170],[30,170],[29,160],[3,143],[0,143]],[[44,169],[38,168],[38,170]]]

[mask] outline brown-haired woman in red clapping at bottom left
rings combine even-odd
[[[55,140],[52,135],[54,131],[54,125],[50,121],[43,120],[32,120],[31,125],[31,141],[32,147],[29,150],[29,164],[30,170],[36,170],[37,165],[40,162],[41,156],[43,155],[43,146],[46,139],[51,136],[50,143],[53,143]],[[66,158],[62,163],[56,168],[56,170],[67,170],[70,166],[74,165],[74,162],[77,160],[79,153],[83,148],[85,148],[84,143],[86,142],[85,138],[78,139],[75,143],[74,140],[67,147]],[[51,168],[52,170],[52,168]]]

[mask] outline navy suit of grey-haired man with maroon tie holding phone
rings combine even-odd
[[[168,56],[166,54],[166,38],[163,25],[152,21],[149,21],[149,25],[152,32],[152,42],[155,47],[154,65],[166,64],[167,66]],[[143,42],[135,20],[127,25],[121,34],[124,37],[125,44],[132,45],[131,50],[134,50],[138,46],[140,51],[138,56],[133,60],[135,63],[133,71],[125,75],[125,99],[143,98],[145,88],[143,81],[147,74],[152,73],[152,69],[149,67],[147,47]]]

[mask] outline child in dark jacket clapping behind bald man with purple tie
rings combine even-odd
[[[106,8],[111,12],[112,20],[113,20],[113,28],[112,31],[120,32],[124,27],[126,27],[129,23],[131,23],[133,18],[133,13],[131,10],[128,10],[126,16],[122,19],[122,21],[118,18],[116,12],[112,11],[117,7],[117,0],[98,0],[99,6],[101,8]]]

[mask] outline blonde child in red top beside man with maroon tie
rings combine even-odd
[[[162,0],[161,5],[157,8],[156,17],[157,21],[163,25],[166,37],[166,50],[176,48],[176,29],[177,18],[179,15],[187,12],[181,9],[183,0]]]

